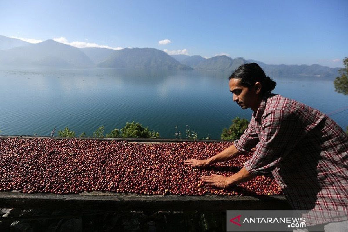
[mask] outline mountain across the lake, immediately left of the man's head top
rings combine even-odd
[[[232,59],[228,56],[214,56],[209,59],[205,59],[199,62],[194,69],[198,70],[217,70],[217,71],[228,71],[233,72],[242,64],[247,63],[247,61],[241,57]]]

